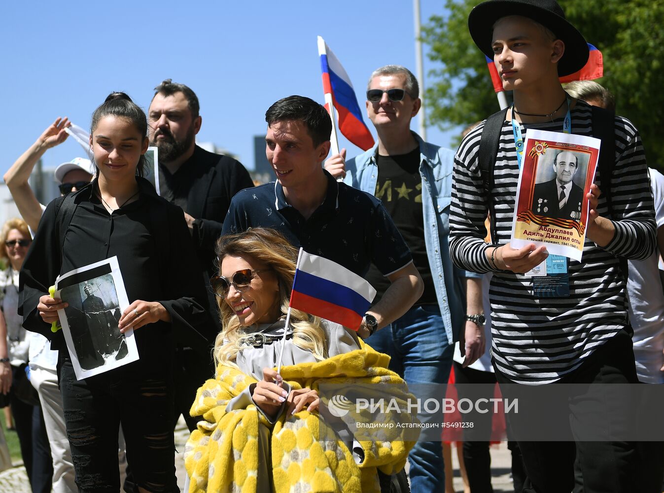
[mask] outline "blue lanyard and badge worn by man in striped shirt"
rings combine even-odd
[[[570,98],[567,98],[567,114],[562,122],[562,132],[570,134],[572,118],[570,117]],[[517,161],[521,169],[523,160],[523,136],[521,124],[514,119],[514,106],[512,106],[512,132],[514,134]],[[570,278],[568,273],[568,258],[561,255],[550,254],[541,264],[526,272],[533,280],[533,296],[538,298],[560,298],[570,296]]]

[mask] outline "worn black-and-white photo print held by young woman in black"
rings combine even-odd
[[[58,315],[78,379],[138,359],[133,332],[118,328],[129,303],[116,257],[64,274],[56,289],[69,305]]]

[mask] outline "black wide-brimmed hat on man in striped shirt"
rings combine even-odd
[[[475,45],[493,60],[493,25],[501,17],[521,15],[550,29],[565,43],[558,62],[558,76],[573,74],[588,61],[588,44],[565,19],[565,13],[554,0],[489,0],[476,5],[468,16],[468,29]]]

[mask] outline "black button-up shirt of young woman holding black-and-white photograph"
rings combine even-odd
[[[158,301],[173,319],[171,324],[155,322],[135,331],[140,361],[170,361],[174,336],[180,344],[209,353],[215,334],[210,332],[204,286],[193,268],[193,248],[182,211],[158,197],[148,181],[137,181],[138,199],[112,214],[93,192],[96,180],[76,193],[62,258],[55,206],[61,199],[46,207],[21,269],[19,314],[27,330],[51,340],[52,349],[66,350],[64,337],[62,330],[52,333],[50,324],[39,316],[39,298],[58,274],[118,256],[129,302]],[[163,220],[155,224],[155,218]]]

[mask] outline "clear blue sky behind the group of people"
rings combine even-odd
[[[443,14],[442,4],[421,0],[422,22]],[[394,63],[415,72],[408,0],[7,3],[0,20],[0,171],[57,116],[87,129],[113,90],[147,110],[152,88],[165,78],[198,94],[198,140],[232,151],[252,168],[252,138],[264,134],[270,104],[291,94],[323,102],[317,35],[341,60],[361,108],[374,68]],[[424,49],[426,72],[433,67]],[[449,146],[454,134],[428,128],[427,140]],[[351,156],[360,152],[343,138],[341,144]],[[69,138],[44,155],[44,167],[81,154]]]

